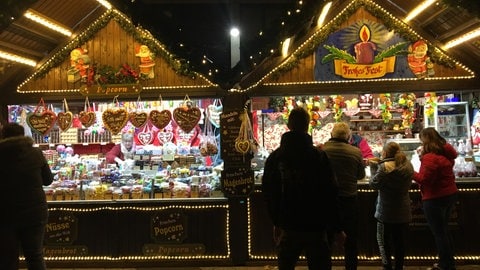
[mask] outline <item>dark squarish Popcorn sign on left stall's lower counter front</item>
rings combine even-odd
[[[166,210],[152,217],[152,239],[157,243],[181,243],[187,238],[187,217],[181,210]]]

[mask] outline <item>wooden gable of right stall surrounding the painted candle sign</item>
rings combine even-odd
[[[320,10],[318,11],[320,13]],[[312,29],[304,36],[294,36],[295,43],[290,53],[283,57],[276,55],[264,61],[245,76],[232,91],[248,92],[250,95],[307,95],[314,93],[344,92],[395,92],[395,91],[461,91],[480,88],[478,74],[473,71],[478,65],[468,67],[448,52],[437,46],[436,40],[429,40],[410,25],[388,12],[371,0],[353,0],[344,5],[338,4],[330,11],[330,18],[322,27]],[[332,45],[332,38],[341,31],[362,20],[371,24],[384,25],[386,33],[401,37],[405,43],[426,41],[428,56],[435,65],[435,75],[417,78],[415,76],[384,76],[380,78],[344,79],[330,76],[329,79],[315,78],[325,45]],[[360,22],[360,24],[362,24]],[[352,31],[350,29],[350,31]],[[357,33],[355,33],[357,34]],[[358,34],[357,34],[358,35]],[[336,37],[338,39],[338,37]],[[358,37],[357,37],[358,38]],[[353,45],[353,44],[350,44]],[[378,44],[377,44],[378,45]],[[344,48],[339,48],[344,50]],[[350,48],[353,50],[353,46]],[[405,48],[406,50],[406,48]],[[406,53],[406,52],[405,52]],[[325,55],[325,54],[323,54]],[[405,56],[406,57],[406,56]],[[333,62],[333,61],[332,61]],[[333,63],[332,63],[333,65]],[[330,67],[332,68],[332,67]],[[371,83],[375,83],[372,85]]]

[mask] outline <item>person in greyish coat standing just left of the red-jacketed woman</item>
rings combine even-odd
[[[392,249],[395,270],[403,269],[408,224],[412,221],[409,190],[413,165],[396,142],[383,148],[379,163],[370,161],[369,184],[378,190],[375,218],[377,244],[384,270],[392,270]]]

